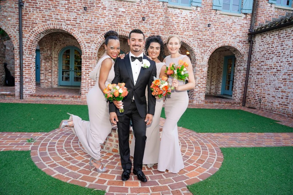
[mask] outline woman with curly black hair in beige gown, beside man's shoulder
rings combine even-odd
[[[151,57],[152,60],[156,62],[157,68],[157,78],[162,78],[163,76],[168,77],[165,73],[166,64],[161,62],[158,57],[163,57],[164,52],[164,43],[159,35],[150,36],[146,39],[144,48],[147,48],[145,54]],[[147,93],[147,90],[146,90]],[[146,95],[147,97],[147,95]],[[142,164],[147,165],[149,168],[154,164],[158,163],[159,159],[159,148],[160,148],[160,131],[159,123],[161,117],[161,111],[163,107],[163,98],[156,100],[155,114],[153,121],[150,125],[147,126],[146,131],[146,146],[144,148],[144,158]],[[133,135],[131,146],[130,146],[130,155],[134,155],[134,146],[135,146],[135,137]]]

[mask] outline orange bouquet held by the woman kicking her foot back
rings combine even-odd
[[[109,84],[107,88],[103,90],[105,98],[112,102],[113,100],[122,102],[123,98],[128,94],[128,90],[125,87],[125,83]],[[119,112],[124,112],[123,106],[119,109]]]

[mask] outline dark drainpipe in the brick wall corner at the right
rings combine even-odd
[[[252,31],[253,31],[256,4],[257,4],[257,0],[254,0],[253,1],[253,6],[252,6],[250,29],[249,29],[250,33],[252,33]],[[247,60],[247,69],[246,69],[246,78],[245,78],[245,84],[244,84],[244,93],[243,93],[242,106],[245,106],[245,100],[246,100],[247,83],[248,83],[248,78],[249,78],[249,69],[250,69],[251,53],[252,53],[252,46],[253,46],[253,35],[248,36],[248,41],[249,41],[249,51],[248,51],[248,60]]]

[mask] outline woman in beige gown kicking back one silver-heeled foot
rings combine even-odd
[[[71,114],[69,120],[63,120],[59,129],[70,126],[79,138],[86,152],[91,155],[90,167],[93,165],[98,172],[108,169],[103,167],[100,158],[101,144],[104,143],[111,132],[112,125],[109,121],[108,103],[103,94],[106,85],[111,84],[114,79],[114,61],[120,53],[120,42],[118,34],[110,30],[105,35],[105,54],[100,58],[98,64],[90,75],[96,81],[86,97],[88,105],[89,121]]]

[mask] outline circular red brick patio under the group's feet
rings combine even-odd
[[[160,124],[164,123],[161,119]],[[178,128],[185,168],[178,174],[160,172],[155,165],[143,166],[148,182],[143,183],[131,173],[126,182],[120,180],[122,167],[117,153],[101,151],[102,163],[110,169],[105,173],[89,170],[90,156],[78,138],[68,129],[54,130],[42,136],[40,144],[31,148],[31,158],[48,175],[72,184],[105,190],[106,194],[191,194],[186,185],[214,174],[222,165],[223,155],[211,139],[194,131]]]

